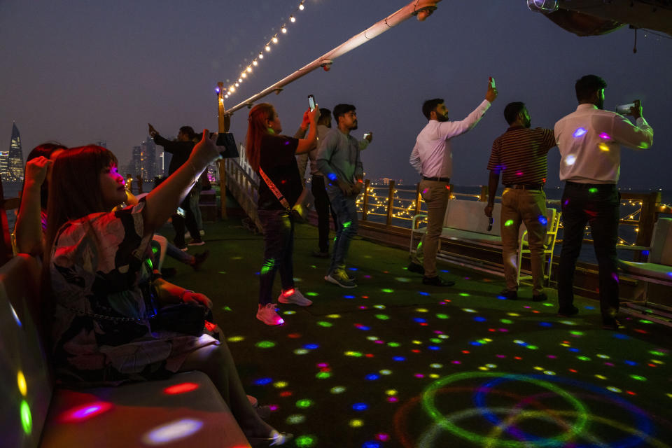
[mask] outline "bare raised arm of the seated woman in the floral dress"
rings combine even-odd
[[[145,235],[160,228],[174,214],[209,163],[218,158],[215,145],[217,134],[212,137],[208,135],[208,130],[204,130],[201,141],[194,146],[189,159],[145,197],[146,204],[142,211]]]

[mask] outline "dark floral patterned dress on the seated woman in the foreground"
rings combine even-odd
[[[143,237],[144,204],[69,221],[58,232],[49,268],[61,381],[118,384],[167,377],[189,353],[218,344],[218,328],[200,337],[151,330],[154,309],[141,288],[151,280],[152,235]]]

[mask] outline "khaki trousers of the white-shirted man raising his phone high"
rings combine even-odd
[[[423,265],[425,276],[436,276],[436,251],[443,230],[443,217],[446,214],[450,190],[448,182],[420,181],[420,194],[427,205],[427,230],[423,235],[413,262]]]

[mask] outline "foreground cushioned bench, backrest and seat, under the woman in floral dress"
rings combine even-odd
[[[202,372],[118,387],[55,386],[40,332],[40,263],[0,267],[3,447],[249,447]]]

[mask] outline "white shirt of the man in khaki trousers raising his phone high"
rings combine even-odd
[[[452,137],[472,129],[490,109],[490,102],[481,104],[462,121],[437,121],[429,123],[418,134],[409,162],[416,172],[427,177],[451,177],[453,175]]]

